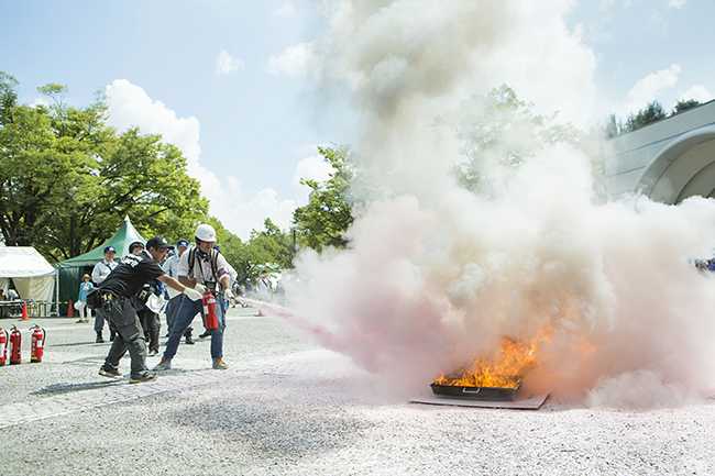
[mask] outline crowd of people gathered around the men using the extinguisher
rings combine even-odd
[[[95,314],[96,342],[103,343],[105,322],[109,326],[112,343],[99,374],[121,378],[119,362],[129,352],[131,358],[130,383],[151,381],[157,373],[172,368],[172,359],[184,337],[194,344],[193,322],[204,317],[202,298],[213,297],[218,325],[208,328],[200,337],[211,337],[211,367],[226,369],[223,362],[223,331],[229,306],[237,306],[235,297],[253,297],[253,285],[237,281],[235,270],[221,254],[216,243],[216,230],[201,224],[195,232],[195,245],[185,239],[176,246],[163,236],[154,236],[144,244],[130,244],[129,254],[114,261],[116,248],[107,246],[103,259],[92,274],[85,275],[79,285],[75,308],[79,311],[78,323],[89,322],[88,313]],[[257,297],[268,300],[273,283],[263,272],[257,284]],[[160,354],[160,329],[162,314],[166,316],[166,337],[162,358],[151,370],[147,356]]]

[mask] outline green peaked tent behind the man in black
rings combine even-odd
[[[73,302],[77,301],[81,277],[85,274],[91,275],[95,265],[105,259],[105,248],[107,246],[114,246],[114,250],[117,250],[114,261],[119,261],[122,256],[129,254],[129,245],[135,241],[146,243],[146,240],[139,234],[129,217],[127,217],[117,233],[105,243],[84,255],[57,263],[55,269],[57,272],[58,314],[67,316],[68,301],[70,299]]]

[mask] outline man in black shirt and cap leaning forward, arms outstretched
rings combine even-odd
[[[117,332],[105,365],[99,369],[99,375],[109,378],[121,378],[119,361],[127,351],[132,359],[130,384],[152,381],[156,374],[146,367],[146,340],[142,324],[136,317],[131,298],[144,286],[146,281],[158,279],[168,287],[184,292],[189,299],[201,299],[201,294],[196,289],[187,288],[176,279],[169,277],[158,265],[168,248],[173,248],[163,236],[154,236],[146,242],[146,248],[124,256],[120,264],[99,286],[103,308],[109,314],[109,326]]]

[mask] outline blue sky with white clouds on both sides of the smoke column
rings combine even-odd
[[[420,8],[435,1],[393,3]],[[211,213],[248,239],[266,217],[289,226],[293,209],[307,200],[298,177],[327,176],[316,144],[355,141],[350,96],[326,95],[311,75],[336,11],[326,15],[326,5],[338,3],[0,0],[0,70],[20,81],[26,103],[42,101],[36,87],[48,82],[68,86],[66,102],[77,107],[88,104],[94,91],[106,91],[111,123],[161,132],[182,147],[189,173],[211,200]],[[543,7],[532,20],[531,34],[540,40],[527,41],[539,54],[512,58],[513,70],[504,79],[495,74],[492,87],[506,81],[537,110],[562,110],[564,120],[584,128],[653,99],[668,110],[684,96],[712,99],[715,2],[529,4]],[[562,31],[548,36],[540,25]],[[559,86],[560,99],[556,86],[548,86],[563,74],[548,59],[539,75],[519,74],[520,63],[549,58],[549,48],[559,68],[579,73],[569,86]],[[321,67],[330,69],[329,59],[322,58]]]

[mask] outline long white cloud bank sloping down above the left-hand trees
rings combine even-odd
[[[242,240],[252,229],[262,230],[266,217],[282,230],[290,226],[295,200],[278,200],[272,188],[246,198],[237,177],[217,177],[200,164],[200,124],[198,119],[177,118],[162,101],[153,101],[140,86],[116,79],[107,86],[109,125],[120,132],[139,126],[143,133],[162,134],[176,145],[187,159],[187,171],[201,185],[201,193],[210,200],[209,212]]]

